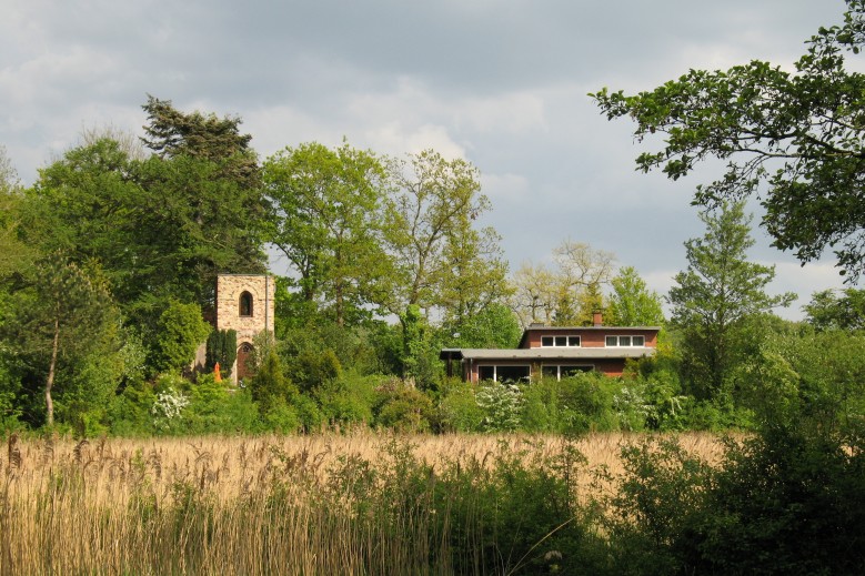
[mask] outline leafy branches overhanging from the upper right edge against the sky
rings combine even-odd
[[[691,70],[636,95],[590,95],[607,119],[632,118],[637,141],[663,134],[663,148],[640,154],[638,169],[661,168],[675,180],[707,158],[728,161],[721,179],[697,189],[696,202],[760,189],[775,246],[803,263],[833,249],[854,281],[865,272],[865,74],[848,71],[845,58],[864,43],[865,0],[847,0],[844,23],[821,28],[795,72],[755,60]]]

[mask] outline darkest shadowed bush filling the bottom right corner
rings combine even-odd
[[[732,445],[698,517],[697,572],[854,574],[865,567],[861,442],[770,425]]]

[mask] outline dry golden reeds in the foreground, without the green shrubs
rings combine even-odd
[[[593,482],[601,476],[592,472],[615,478],[622,445],[637,438],[579,438],[585,463],[574,496],[615,489],[610,481]],[[0,574],[452,573],[446,532],[463,530],[471,540],[475,528],[434,517],[447,511],[416,498],[385,523],[376,519],[381,511],[359,505],[382,488],[379,466],[386,458],[393,462],[384,489],[400,486],[389,442],[403,443],[406,455],[429,466],[430,485],[419,494],[432,494],[432,471],[454,463],[483,468],[506,453],[550,462],[567,443],[543,435],[394,439],[369,432],[80,442],[11,436],[0,456]],[[708,462],[722,451],[710,434],[683,434],[680,442]],[[463,562],[481,567],[484,559]]]

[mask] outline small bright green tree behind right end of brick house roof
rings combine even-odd
[[[610,281],[606,322],[615,326],[660,326],[664,323],[661,296],[650,291],[633,266],[625,266]]]

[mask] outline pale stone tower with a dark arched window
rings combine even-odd
[[[273,333],[276,283],[266,274],[220,274],[217,276],[217,330],[238,333],[238,360],[231,380],[251,375],[247,362],[252,354],[252,338]]]

